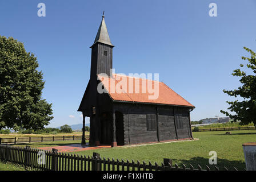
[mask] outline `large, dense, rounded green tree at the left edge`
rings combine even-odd
[[[23,43],[0,36],[0,129],[39,130],[53,119],[51,104],[42,100],[45,82],[37,57]]]

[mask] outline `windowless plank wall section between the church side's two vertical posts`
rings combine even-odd
[[[159,140],[177,139],[174,124],[174,107],[158,107]]]

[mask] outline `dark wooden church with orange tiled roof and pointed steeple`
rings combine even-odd
[[[85,144],[85,117],[90,117],[89,146],[114,147],[193,139],[190,111],[194,106],[163,82],[151,81],[153,85],[158,85],[159,90],[159,96],[154,100],[149,100],[148,92],[125,92],[122,86],[121,92],[110,92],[111,84],[106,85],[106,82],[112,81],[117,86],[120,80],[127,78],[133,83],[131,89],[138,86],[141,91],[145,79],[111,73],[114,46],[110,42],[104,17],[90,47],[90,80],[78,109],[83,115],[82,144]],[[106,76],[101,76],[101,73]],[[100,83],[106,92],[97,91]]]

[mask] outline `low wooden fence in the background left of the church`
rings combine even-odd
[[[89,140],[89,136],[85,136],[86,140]],[[9,143],[30,143],[30,142],[54,142],[61,140],[81,140],[82,136],[60,136],[60,137],[14,137],[14,138],[0,138],[0,144]]]

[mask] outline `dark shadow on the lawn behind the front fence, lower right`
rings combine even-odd
[[[173,159],[173,165],[177,163],[179,167],[181,167],[180,164],[185,164],[186,168],[190,168],[190,164],[194,168],[198,168],[198,164],[202,167],[202,169],[206,169],[206,165],[210,167],[211,170],[215,170],[214,164],[209,164],[209,159],[202,158],[202,157],[195,157],[191,158],[189,160],[181,160],[181,159]],[[234,170],[234,167],[238,170],[245,170],[245,162],[239,161],[239,160],[227,160],[227,159],[218,159],[217,158],[217,165],[215,165],[219,168],[219,170],[225,170],[224,167],[227,169]]]

